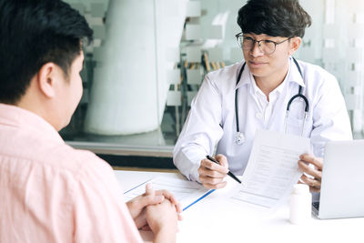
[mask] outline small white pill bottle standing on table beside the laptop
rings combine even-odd
[[[289,201],[289,221],[295,225],[308,223],[311,219],[311,203],[308,185],[296,184]]]

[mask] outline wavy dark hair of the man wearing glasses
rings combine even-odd
[[[243,33],[281,37],[303,37],[311,17],[298,0],[248,0],[238,11]]]

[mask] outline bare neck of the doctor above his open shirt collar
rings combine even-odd
[[[282,66],[270,67],[270,70],[263,74],[253,73],[258,88],[267,96],[268,101],[269,94],[285,80],[288,74],[288,67],[289,61]]]

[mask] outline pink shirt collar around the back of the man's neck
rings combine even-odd
[[[18,106],[0,103],[0,125],[19,127],[37,133],[41,137],[47,137],[57,143],[65,143],[55,127],[52,127],[44,118]]]

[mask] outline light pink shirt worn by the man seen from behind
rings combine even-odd
[[[141,242],[112,168],[0,104],[0,242]]]

